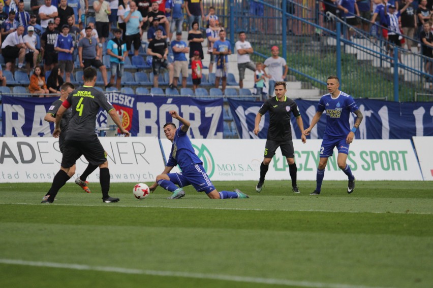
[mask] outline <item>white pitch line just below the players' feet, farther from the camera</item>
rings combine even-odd
[[[170,208],[170,209],[208,209],[208,210],[239,210],[239,211],[292,211],[292,212],[326,212],[326,213],[373,213],[373,214],[421,214],[431,215],[432,212],[413,212],[413,211],[335,211],[335,210],[319,210],[319,209],[266,209],[266,208],[231,208],[231,207],[183,207],[183,206],[134,206],[134,205],[89,205],[89,204],[40,204],[40,203],[0,203],[0,205],[54,205],[54,206],[82,206],[82,207],[133,207],[133,208]]]

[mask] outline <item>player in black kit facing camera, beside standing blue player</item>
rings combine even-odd
[[[292,142],[292,127],[290,123],[290,114],[296,117],[296,123],[301,130],[302,142],[306,142],[306,137],[302,133],[304,125],[302,118],[299,113],[298,106],[295,101],[287,98],[286,96],[286,82],[275,83],[275,97],[267,99],[265,103],[260,107],[259,113],[257,113],[254,127],[254,134],[258,134],[260,131],[259,124],[262,116],[269,112],[269,128],[266,138],[266,146],[264,159],[260,165],[260,179],[256,186],[256,191],[262,191],[262,186],[265,181],[266,172],[269,169],[269,163],[272,157],[275,155],[275,151],[280,147],[283,156],[286,157],[287,163],[289,164],[289,173],[292,179],[292,191],[299,193],[298,186],[296,184],[296,172],[297,167],[295,163],[295,150]]]

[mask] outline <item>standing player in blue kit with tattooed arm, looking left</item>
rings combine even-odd
[[[328,163],[328,157],[332,156],[334,147],[337,147],[338,150],[338,167],[349,178],[347,193],[350,194],[355,188],[355,176],[352,174],[350,166],[346,164],[346,160],[350,143],[353,141],[355,131],[358,129],[359,124],[361,124],[363,116],[353,98],[338,90],[340,84],[336,76],[329,76],[326,84],[329,93],[320,98],[317,112],[311,121],[310,127],[304,130],[305,135],[310,134],[311,129],[319,122],[323,111],[326,110],[326,128],[323,135],[322,147],[320,148],[320,160],[316,176],[317,186],[316,190],[310,195],[320,194],[325,167]],[[354,113],[357,116],[352,130],[349,125],[350,113]]]

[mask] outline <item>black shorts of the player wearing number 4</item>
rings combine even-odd
[[[91,165],[101,165],[107,161],[105,150],[95,135],[95,138],[92,137],[85,141],[65,140],[61,167],[73,166],[82,155]]]

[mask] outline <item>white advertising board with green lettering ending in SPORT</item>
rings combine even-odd
[[[166,159],[171,151],[171,142],[162,139]],[[260,163],[266,140],[264,139],[191,139],[196,154],[203,160],[211,180],[236,181],[258,180]],[[299,180],[316,179],[319,150],[322,140],[293,140],[295,161]],[[346,180],[347,176],[338,168],[337,150],[329,157],[325,170],[327,180]],[[359,140],[350,147],[347,163],[358,180],[422,180],[421,171],[411,141],[404,140]],[[430,162],[433,163],[433,162]],[[179,171],[177,168],[173,172]],[[289,179],[289,166],[281,151],[277,150],[266,174],[268,180]]]

